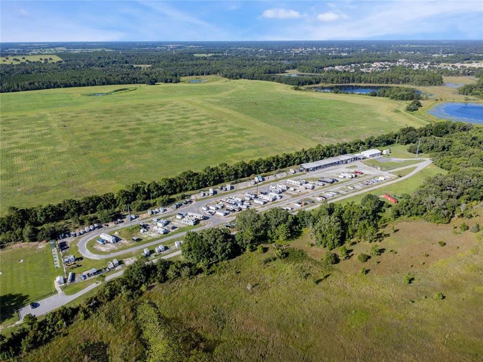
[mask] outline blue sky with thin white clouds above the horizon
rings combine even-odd
[[[483,39],[482,1],[5,1],[0,40]]]

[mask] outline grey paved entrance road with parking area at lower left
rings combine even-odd
[[[175,252],[173,252],[171,254],[161,256],[161,258],[162,259],[169,259],[169,258],[172,258],[172,257],[180,255],[180,254],[181,254],[181,250],[176,250]],[[156,259],[152,259],[151,261],[153,261],[153,260],[156,260]],[[114,274],[107,276],[106,282],[110,281],[114,278],[120,277],[123,273],[124,273],[124,269],[119,270],[119,272],[116,272]],[[93,284],[91,284],[89,287],[86,287],[82,291],[79,291],[75,294],[66,295],[64,292],[61,291],[58,294],[55,294],[53,296],[42,299],[41,301],[38,301],[37,303],[39,304],[39,306],[37,308],[34,308],[34,309],[32,309],[30,307],[30,304],[29,304],[29,305],[27,305],[27,306],[18,310],[20,320],[16,324],[22,323],[22,320],[24,319],[24,316],[26,314],[30,313],[30,314],[33,314],[35,316],[47,314],[47,313],[53,311],[54,309],[57,309],[57,308],[59,308],[63,305],[66,305],[67,303],[73,301],[74,299],[81,297],[82,295],[86,294],[87,292],[93,290],[94,288],[96,288],[98,286],[100,286],[100,284],[96,283],[93,280]]]

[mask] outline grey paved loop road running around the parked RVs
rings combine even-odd
[[[420,158],[420,159],[422,160],[422,162],[417,163],[417,164],[411,164],[411,165],[401,166],[401,167],[394,168],[394,169],[389,170],[389,171],[378,171],[377,172],[377,175],[388,175],[388,174],[391,174],[393,172],[397,172],[397,171],[402,170],[402,169],[405,169],[405,168],[410,168],[410,167],[417,166],[417,168],[415,170],[413,170],[411,173],[409,173],[409,174],[407,174],[407,175],[405,175],[403,177],[397,177],[397,178],[395,178],[393,180],[390,180],[390,181],[387,181],[387,182],[383,182],[383,183],[380,183],[380,184],[376,184],[375,186],[365,187],[365,188],[363,188],[360,191],[351,192],[351,193],[349,193],[347,195],[343,195],[343,196],[338,197],[338,198],[330,199],[329,202],[335,202],[335,201],[343,200],[343,199],[346,199],[346,198],[349,198],[349,197],[352,197],[352,196],[360,195],[360,194],[366,193],[368,191],[375,190],[375,189],[379,189],[379,188],[384,187],[386,185],[391,185],[391,184],[394,184],[394,183],[399,182],[401,180],[404,180],[404,179],[406,179],[408,177],[411,177],[415,173],[417,173],[417,172],[421,171],[423,168],[427,167],[432,162],[428,158]],[[403,159],[403,158],[400,158],[399,159],[398,158],[398,159],[393,159],[393,160],[404,161],[406,159]],[[339,166],[335,166],[334,168],[337,168],[337,167],[340,167],[340,165]],[[310,172],[310,173],[305,174],[304,177],[310,177],[310,178],[318,177],[318,175],[322,175],[323,173],[326,173],[327,171],[328,171],[328,169],[324,169],[324,170],[320,170],[320,171],[315,171],[315,172]],[[340,189],[341,187],[344,187],[344,186],[349,186],[349,185],[352,185],[352,184],[358,184],[360,182],[363,182],[366,179],[374,178],[374,176],[375,176],[375,174],[368,174],[368,175],[365,175],[363,177],[357,177],[357,178],[351,179],[350,181],[345,182],[343,185],[335,184],[334,186],[327,187],[327,188],[324,188],[322,190],[317,188],[314,191],[311,191],[309,193],[302,193],[302,195],[300,195],[300,196],[296,196],[296,197],[285,197],[285,198],[281,199],[278,202],[269,203],[269,204],[267,204],[265,206],[262,206],[262,207],[260,207],[260,208],[258,208],[256,210],[257,211],[265,211],[265,210],[268,210],[268,209],[271,209],[271,208],[274,208],[274,207],[287,206],[289,204],[296,203],[297,201],[300,201],[300,200],[303,200],[303,199],[306,199],[306,198],[310,198],[310,197],[319,195],[319,194],[324,193],[324,192],[327,192],[327,191],[333,191],[333,190]],[[274,179],[273,181],[276,182],[276,179]],[[248,189],[238,190],[238,192],[245,193],[245,192],[254,191],[255,189],[256,189],[256,187],[252,187],[252,188],[248,188]],[[189,206],[183,207],[183,210],[184,211],[189,211],[189,212],[199,213],[200,212],[200,208],[203,205],[212,203],[215,200],[218,200],[218,199],[220,199],[222,197],[225,197],[225,196],[224,195],[219,195],[219,196],[214,197],[214,198],[209,198],[209,199],[205,199],[205,200],[202,200],[202,201],[198,201],[198,202],[195,202],[195,203],[193,203],[193,204],[191,204]],[[310,207],[306,207],[306,208],[304,208],[304,210],[311,210],[311,209],[314,209],[314,208],[316,208],[318,206],[319,206],[319,203],[318,204],[315,204],[313,206],[310,206]],[[294,210],[293,212],[296,212],[296,211],[298,211],[298,210]],[[177,211],[172,212],[172,213],[164,214],[163,217],[167,217],[167,216],[176,214],[176,212]],[[135,222],[133,222],[133,224],[138,224],[139,222],[147,222],[150,219],[152,219],[152,218],[144,219],[144,220],[136,220]],[[214,226],[217,226],[217,225],[229,223],[230,221],[233,221],[234,219],[235,219],[235,217],[218,218],[216,216],[210,216],[209,219],[208,219],[209,222],[206,225],[200,226],[200,227],[198,227],[196,229],[192,229],[192,230],[193,231],[201,231],[203,229],[207,229],[207,228],[214,227]],[[125,227],[126,227],[126,223],[124,223],[122,225],[117,225],[117,226],[115,226],[113,228],[100,230],[100,231],[97,231],[94,234],[88,234],[88,235],[82,237],[81,240],[79,240],[79,242],[77,244],[77,246],[79,248],[79,252],[84,257],[87,257],[87,258],[90,258],[90,259],[112,259],[112,258],[115,258],[116,256],[119,256],[119,255],[123,255],[123,254],[130,253],[130,252],[133,252],[133,251],[141,250],[141,249],[144,249],[146,247],[149,248],[150,246],[158,245],[159,243],[162,243],[162,242],[166,242],[166,241],[170,241],[170,240],[182,238],[186,234],[186,232],[180,232],[180,233],[177,233],[177,234],[168,235],[166,237],[163,237],[163,238],[160,238],[160,239],[157,239],[157,240],[154,240],[154,241],[145,243],[145,244],[136,245],[136,246],[133,246],[132,248],[124,249],[124,250],[120,250],[120,251],[116,251],[116,252],[112,252],[112,253],[109,253],[109,254],[96,254],[96,253],[92,252],[91,250],[89,250],[87,248],[87,242],[89,240],[95,238],[95,237],[98,237],[101,233],[103,233],[103,232],[110,233],[112,231],[115,231],[115,230],[121,229],[121,228],[125,228]]]

